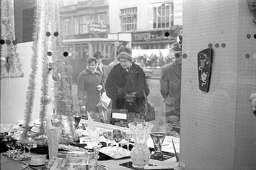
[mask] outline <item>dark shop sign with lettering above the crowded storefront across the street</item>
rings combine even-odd
[[[166,36],[166,33],[169,33]],[[141,33],[132,33],[132,42],[150,42],[150,41],[171,41],[175,40],[178,34],[173,31],[151,31],[151,32],[141,32]]]

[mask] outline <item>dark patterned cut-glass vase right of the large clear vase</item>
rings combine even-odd
[[[155,147],[155,153],[153,154],[153,156],[156,159],[161,159],[163,157],[161,149],[162,149],[162,145],[163,145],[166,133],[152,132],[152,133],[150,133],[150,136],[153,139],[154,147]]]

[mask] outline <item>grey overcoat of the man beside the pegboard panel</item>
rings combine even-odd
[[[165,99],[166,109],[173,110],[180,108],[180,90],[181,90],[181,66],[174,60],[165,65],[161,71],[160,91]]]

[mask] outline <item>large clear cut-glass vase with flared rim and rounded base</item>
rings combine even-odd
[[[128,125],[134,138],[134,146],[131,149],[132,166],[143,168],[144,165],[149,163],[150,159],[147,141],[153,124],[149,122],[133,122]]]

